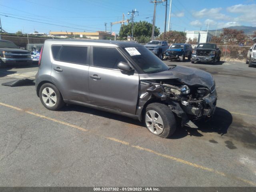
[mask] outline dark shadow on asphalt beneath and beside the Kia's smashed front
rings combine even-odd
[[[180,139],[186,136],[204,136],[203,134],[198,132],[198,130],[200,130],[202,133],[215,132],[220,135],[224,135],[228,132],[228,128],[230,127],[232,122],[232,114],[223,108],[217,107],[214,116],[210,120],[206,122],[199,121],[195,123],[196,126],[198,126],[198,129],[190,128],[188,126],[178,128],[174,135],[170,137],[170,139]]]

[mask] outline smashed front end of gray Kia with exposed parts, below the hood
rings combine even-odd
[[[152,100],[165,103],[182,119],[182,126],[198,128],[193,122],[210,118],[216,108],[215,82],[208,88],[199,84],[184,84],[177,79],[142,80],[140,91],[138,110]]]

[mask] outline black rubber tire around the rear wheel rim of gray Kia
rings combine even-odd
[[[50,106],[47,106],[44,101],[42,100],[42,91],[44,90],[44,88],[46,87],[50,87],[54,90],[55,94],[56,94],[56,98],[57,98],[57,102],[54,106],[50,107]],[[62,106],[64,106],[64,101],[63,101],[63,98],[60,94],[60,91],[58,90],[58,88],[53,85],[53,84],[50,84],[50,83],[45,83],[43,84],[41,87],[40,87],[40,90],[39,90],[39,97],[40,97],[40,100],[42,102],[42,104],[44,105],[45,108],[47,108],[48,110],[58,110],[60,109]]]

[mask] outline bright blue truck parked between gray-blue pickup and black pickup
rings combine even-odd
[[[185,57],[190,61],[192,54],[192,47],[189,44],[172,44],[164,53],[164,60],[166,59],[180,59],[184,61]]]

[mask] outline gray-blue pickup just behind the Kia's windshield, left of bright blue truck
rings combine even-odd
[[[168,49],[168,43],[167,41],[150,41],[148,44],[145,45],[146,48],[148,48],[150,51],[152,51],[156,56],[158,56],[160,59],[163,58],[163,54]]]

